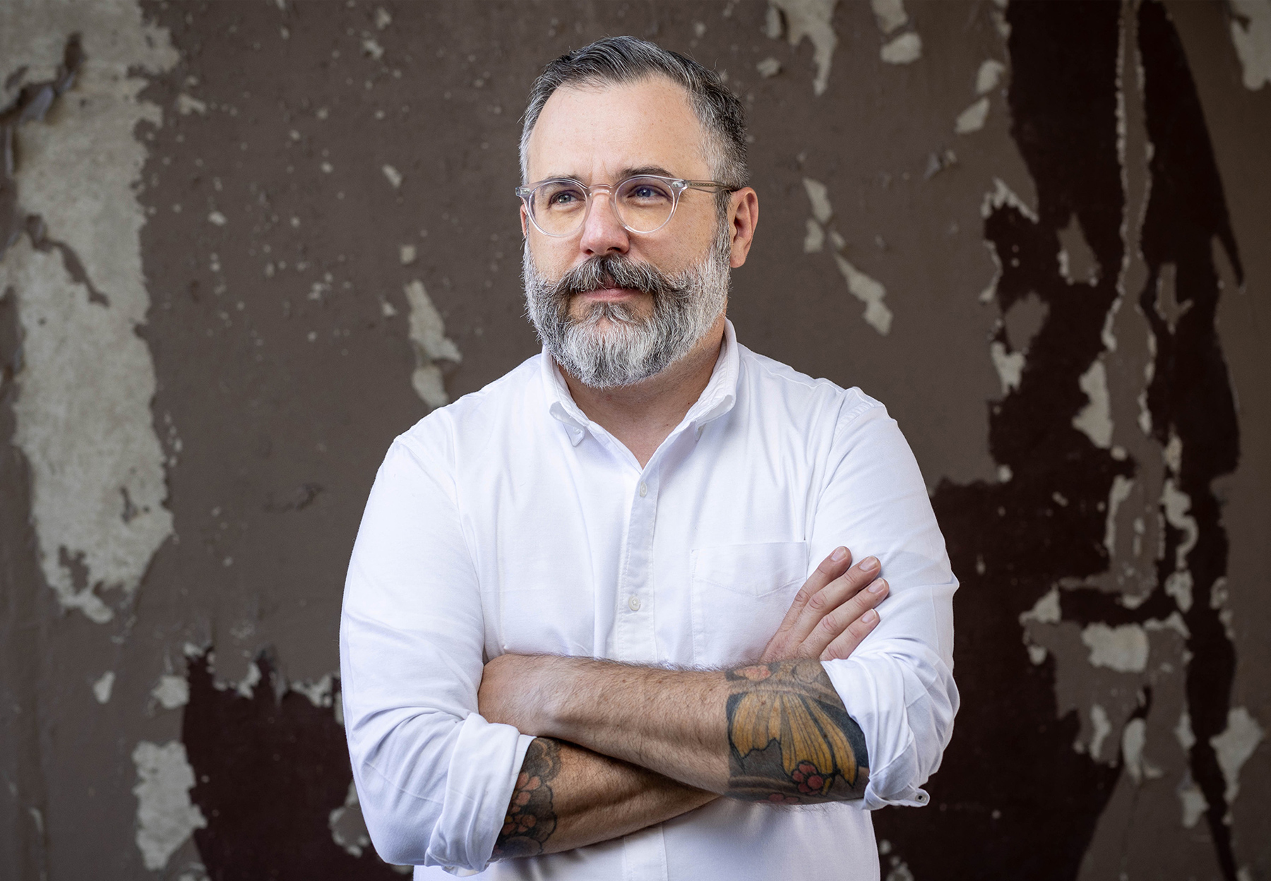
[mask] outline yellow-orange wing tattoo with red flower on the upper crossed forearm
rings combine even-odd
[[[756,664],[726,678],[727,795],[778,805],[864,796],[864,735],[819,661]]]

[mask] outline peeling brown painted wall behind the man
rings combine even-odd
[[[616,33],[745,100],[738,337],[888,406],[961,578],[883,877],[1271,878],[1268,0],[0,3],[0,877],[399,877],[344,567],[538,350],[520,114]]]

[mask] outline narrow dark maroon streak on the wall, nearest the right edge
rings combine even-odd
[[[1191,497],[1196,544],[1187,554],[1192,604],[1187,624],[1187,711],[1196,742],[1192,778],[1205,793],[1210,835],[1223,877],[1235,880],[1235,857],[1228,826],[1227,783],[1210,739],[1227,728],[1235,646],[1227,637],[1219,609],[1210,603],[1215,582],[1227,575],[1228,542],[1213,481],[1235,470],[1239,425],[1227,362],[1214,319],[1220,283],[1214,266],[1215,239],[1238,280],[1243,277],[1210,145],[1205,116],[1187,58],[1168,13],[1159,3],[1139,8],[1139,51],[1144,67],[1148,136],[1154,146],[1149,169],[1152,195],[1143,222],[1148,283],[1139,306],[1157,341],[1155,370],[1148,385],[1152,434],[1162,445],[1182,441],[1178,488]],[[1173,329],[1157,306],[1162,268],[1176,267],[1176,299],[1190,308]],[[1181,530],[1166,526],[1164,556],[1157,567],[1157,592],[1174,570]]]

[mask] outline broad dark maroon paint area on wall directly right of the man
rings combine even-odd
[[[955,652],[963,703],[930,783],[934,810],[878,816],[880,835],[920,878],[1075,877],[1120,773],[1073,750],[1079,721],[1075,712],[1055,718],[1054,657],[1033,665],[1019,634],[1021,613],[1051,585],[1107,570],[1104,506],[1113,477],[1132,470],[1071,425],[1087,403],[1078,378],[1102,350],[1124,253],[1120,15],[1110,3],[1008,10],[1012,136],[1037,188],[1038,220],[1003,205],[985,220],[985,239],[1003,267],[1002,311],[1030,294],[1047,311],[1019,388],[990,404],[990,450],[1012,479],[944,481],[932,500],[962,580]],[[1099,264],[1093,283],[1059,272],[1059,230],[1073,215]]]

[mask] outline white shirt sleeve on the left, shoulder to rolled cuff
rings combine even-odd
[[[398,437],[375,478],[344,582],[341,686],[380,857],[479,871],[533,737],[477,712],[484,622],[441,416]]]

